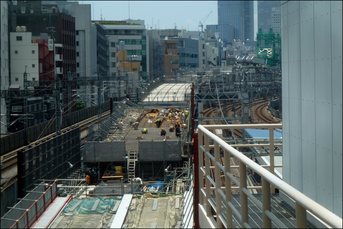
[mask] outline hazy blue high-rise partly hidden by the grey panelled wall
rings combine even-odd
[[[272,26],[272,17],[276,17],[272,16],[272,8],[277,7],[280,9],[280,4],[280,1],[257,1],[257,25],[258,28],[262,28],[263,33],[269,33],[269,29]],[[274,21],[273,26],[280,26],[281,28],[281,18],[280,21],[278,21],[279,25],[276,25],[275,22],[276,21]]]

